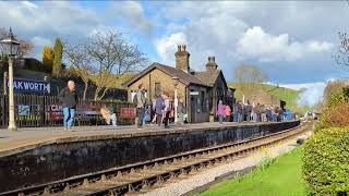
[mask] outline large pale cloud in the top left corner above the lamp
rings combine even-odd
[[[68,1],[0,1],[0,27],[11,26],[19,39],[31,40],[38,59],[41,47],[56,37],[75,40],[101,22],[93,10]]]

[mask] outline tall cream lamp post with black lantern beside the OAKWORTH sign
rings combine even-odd
[[[14,38],[12,29],[7,37],[1,41],[1,49],[3,58],[8,58],[9,61],[9,126],[8,130],[16,131],[14,120],[14,98],[13,98],[13,62],[20,51],[20,42]]]

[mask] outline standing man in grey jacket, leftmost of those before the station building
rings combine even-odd
[[[143,84],[139,85],[139,90],[135,94],[133,98],[133,105],[136,108],[136,113],[137,113],[137,128],[143,127],[143,118],[144,118],[144,111],[145,111],[145,103],[146,103],[146,98],[145,98],[145,87]]]

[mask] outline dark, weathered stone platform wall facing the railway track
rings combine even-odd
[[[0,158],[0,192],[267,135],[299,121],[71,138]],[[79,140],[80,139],[80,140]],[[4,183],[5,182],[5,183]]]

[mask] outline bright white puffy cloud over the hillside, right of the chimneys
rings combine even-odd
[[[288,34],[272,35],[260,26],[249,28],[241,37],[237,51],[246,58],[256,58],[263,62],[296,61],[313,52],[323,52],[333,48],[326,41],[290,41]]]

